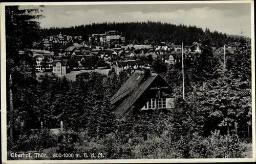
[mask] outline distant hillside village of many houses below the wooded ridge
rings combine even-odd
[[[94,45],[98,42],[101,46]],[[57,76],[67,76],[75,79],[84,72],[98,71],[108,74],[114,68],[117,74],[127,71],[142,70],[146,64],[161,59],[167,66],[181,62],[181,45],[161,42],[158,45],[125,44],[125,35],[117,31],[88,36],[88,42],[81,36],[59,35],[42,39],[44,50],[30,49],[38,74],[52,72]],[[226,51],[233,53],[239,43],[225,45]],[[215,51],[223,52],[223,47],[213,47]],[[58,49],[58,52],[51,51]],[[185,59],[196,60],[200,57],[200,44],[195,42],[183,46]],[[39,73],[40,72],[40,73]]]

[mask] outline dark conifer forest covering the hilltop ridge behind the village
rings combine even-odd
[[[106,31],[119,31],[125,34],[125,40],[132,43],[138,40],[139,43],[149,42],[151,44],[159,42],[171,42],[174,44],[191,45],[198,42],[204,33],[210,34],[214,46],[223,46],[224,43],[238,42],[239,36],[229,36],[217,31],[210,32],[208,28],[205,31],[197,26],[176,25],[163,22],[111,22],[111,23],[93,23],[86,25],[72,26],[70,28],[50,28],[41,29],[42,37],[58,35],[82,36],[88,40],[91,34],[102,34]],[[147,40],[147,41],[145,41]]]

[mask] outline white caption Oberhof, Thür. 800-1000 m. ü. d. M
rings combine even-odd
[[[73,154],[73,153],[53,153],[53,154],[45,154],[45,153],[23,153],[23,154],[17,154],[17,153],[11,153],[11,157],[16,158],[32,158],[32,156],[35,156],[36,158],[48,158],[48,156],[52,156],[53,158],[103,158],[104,155],[102,153],[83,153],[83,154]]]

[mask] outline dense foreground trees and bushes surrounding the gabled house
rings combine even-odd
[[[49,154],[47,159],[57,160],[76,157],[54,158],[53,153],[101,152],[100,159],[252,157],[251,142],[242,140],[252,135],[251,43],[242,36],[224,70],[223,56],[212,50],[214,38],[202,32],[200,58],[184,61],[185,101],[180,101],[181,64],[153,67],[174,88],[175,108],[168,113],[131,110],[119,120],[110,98],[128,78],[126,72],[92,73],[75,81],[54,74],[37,79],[29,54],[18,53],[32,44],[22,38],[39,34],[38,24],[31,21],[36,17],[15,6],[6,11],[8,159],[22,159],[10,153],[33,142],[37,151]],[[63,131],[53,135],[50,128],[60,121]],[[52,140],[58,145],[39,144]]]

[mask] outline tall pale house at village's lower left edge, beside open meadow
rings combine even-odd
[[[53,70],[52,73],[57,76],[64,76],[67,74],[67,62],[68,60],[53,60]]]

